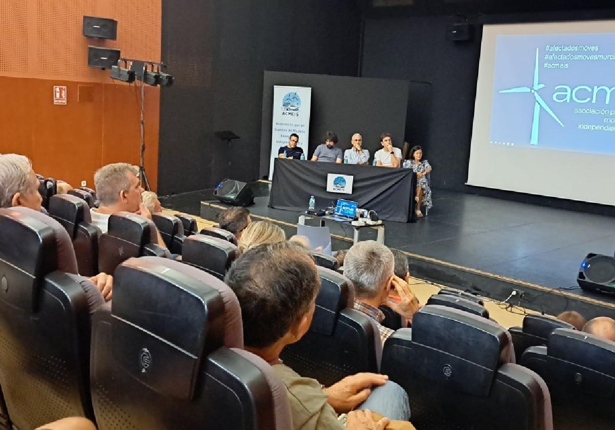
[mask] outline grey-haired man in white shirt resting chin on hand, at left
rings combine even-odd
[[[132,212],[152,221],[152,214],[141,201],[143,187],[139,183],[138,169],[128,163],[114,163],[101,167],[94,174],[98,208],[90,209],[92,224],[101,232],[108,230],[109,216],[118,212]],[[152,225],[152,227],[155,229]],[[156,230],[158,244],[167,248]]]

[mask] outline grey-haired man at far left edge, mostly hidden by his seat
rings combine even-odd
[[[38,184],[38,178],[32,170],[32,163],[28,157],[18,154],[0,154],[0,208],[23,206],[41,212],[42,197],[38,190]],[[60,225],[51,217],[46,217],[46,223]],[[63,229],[56,230],[66,233]],[[71,252],[74,259],[72,247]],[[76,270],[74,270],[74,275],[77,275]],[[95,284],[105,300],[111,299],[113,276],[98,273],[89,280]],[[89,293],[87,291],[89,284],[84,283],[82,286],[86,293]],[[92,303],[95,303],[95,300]]]

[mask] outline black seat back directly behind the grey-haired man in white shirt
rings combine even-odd
[[[142,256],[171,257],[158,244],[154,223],[129,212],[111,215],[108,231],[98,241],[98,270],[113,273],[122,261]]]

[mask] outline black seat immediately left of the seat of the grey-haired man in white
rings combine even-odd
[[[49,216],[62,224],[73,241],[77,268],[83,276],[98,275],[98,236],[100,230],[90,224],[90,208],[84,200],[68,194],[54,195]]]

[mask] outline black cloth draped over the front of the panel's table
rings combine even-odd
[[[282,160],[274,164],[269,207],[303,212],[314,195],[316,208],[335,205],[338,198],[357,201],[387,221],[409,222],[415,201],[416,175],[410,169]],[[354,176],[352,194],[327,192],[327,174]]]

